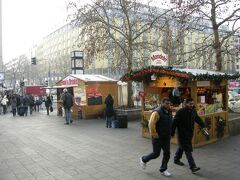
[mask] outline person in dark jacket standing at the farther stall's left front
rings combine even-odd
[[[73,96],[68,92],[67,89],[63,90],[62,101],[66,120],[65,124],[68,125],[69,123],[72,123],[71,108],[73,106]]]

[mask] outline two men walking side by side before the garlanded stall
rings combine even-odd
[[[167,170],[167,165],[170,159],[170,140],[171,137],[174,137],[177,129],[179,147],[174,156],[174,163],[179,166],[184,166],[181,158],[183,152],[185,152],[190,169],[192,173],[195,173],[199,171],[200,168],[196,166],[192,156],[194,122],[198,123],[201,128],[207,131],[205,124],[194,109],[192,98],[187,98],[185,100],[184,107],[177,111],[174,118],[172,116],[171,106],[171,100],[165,97],[162,100],[161,106],[152,112],[149,120],[149,130],[152,136],[153,152],[140,157],[140,165],[145,169],[150,160],[159,157],[162,149],[163,158],[160,172],[164,176],[171,176],[171,173]]]

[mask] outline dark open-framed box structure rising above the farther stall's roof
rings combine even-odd
[[[72,74],[84,74],[83,51],[71,52],[71,68]]]

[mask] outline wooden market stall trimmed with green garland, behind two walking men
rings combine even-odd
[[[173,104],[173,115],[182,107],[184,98],[192,97],[199,116],[210,134],[206,139],[195,123],[193,146],[198,147],[228,136],[228,79],[238,75],[206,71],[200,69],[172,69],[151,66],[124,75],[122,81],[143,82],[142,135],[150,137],[148,120],[151,112],[160,105],[163,97],[169,97]],[[178,91],[174,94],[175,90]],[[172,139],[177,143],[176,137]]]

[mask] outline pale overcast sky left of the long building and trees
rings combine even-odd
[[[30,48],[66,21],[67,0],[2,0],[3,61],[30,53]]]

